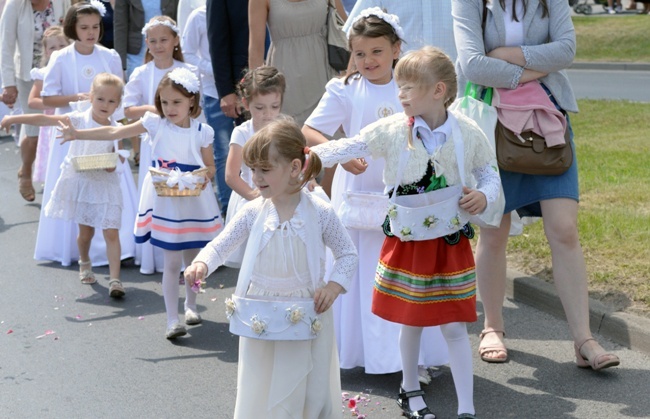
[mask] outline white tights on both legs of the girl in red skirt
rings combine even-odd
[[[440,326],[449,348],[449,366],[454,378],[458,414],[474,411],[474,373],[472,371],[472,348],[465,323],[448,323]],[[418,381],[418,355],[420,353],[421,327],[402,325],[399,346],[402,355],[402,388],[404,391],[420,390]],[[426,406],[422,397],[410,399],[411,410]]]

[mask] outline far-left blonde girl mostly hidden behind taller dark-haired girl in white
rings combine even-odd
[[[40,68],[33,68],[30,72],[34,84],[29,92],[27,104],[32,109],[42,110],[46,115],[53,115],[54,109],[43,106],[41,90],[43,89],[43,76],[45,67],[50,61],[54,51],[58,51],[70,45],[70,40],[63,33],[63,27],[50,26],[43,32],[43,55],[41,56]],[[32,181],[45,182],[45,171],[47,169],[47,158],[50,154],[50,139],[52,138],[52,127],[40,127],[38,133],[38,145],[36,147],[36,159],[34,160],[34,171]]]

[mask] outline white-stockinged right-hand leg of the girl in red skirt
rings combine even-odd
[[[472,347],[467,335],[467,326],[465,323],[448,323],[441,325],[440,331],[449,348],[449,367],[458,397],[458,414],[475,414]]]

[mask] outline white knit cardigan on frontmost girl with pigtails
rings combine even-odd
[[[256,223],[258,215],[262,217],[263,223]],[[254,261],[278,229],[293,229],[305,243],[310,271],[313,272],[312,276],[316,277],[312,279],[317,283],[324,277],[325,246],[329,247],[334,255],[334,267],[328,281],[340,284],[345,290],[349,288],[358,264],[356,247],[332,206],[304,190],[300,192],[300,203],[293,217],[284,223],[280,223],[271,201],[260,197],[247,203],[237,211],[224,230],[201,250],[194,262],[205,263],[208,266],[208,274],[211,274],[223,265],[228,256],[247,238],[246,253],[249,248],[258,248],[252,249],[256,254],[244,256],[244,262]],[[244,280],[242,274],[246,276],[252,272],[254,264],[242,264],[238,281]]]

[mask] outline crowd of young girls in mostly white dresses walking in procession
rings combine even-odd
[[[205,19],[203,9],[192,19]],[[102,13],[96,2],[79,3],[62,29],[46,31],[30,96],[45,113],[1,123],[43,127],[35,258],[78,261],[83,284],[96,282],[92,266],[108,264],[113,298],[126,292],[122,259],[134,257],[143,274],[162,271],[167,339],[201,323],[197,285],[221,265],[240,268],[242,297],[313,300],[313,336],[273,339],[258,322],[256,337],[240,338],[235,418],[340,417],[339,368],[361,366],[371,374],[402,371],[403,415],[432,419],[420,387],[429,377],[419,366],[446,362],[458,417],[475,417],[466,329],[477,318],[474,230],[466,219],[495,205],[500,178],[483,132],[447,109],[457,93],[449,57],[425,47],[400,58],[399,20],[368,9],[348,34],[356,71],[328,83],[303,127],[280,115],[282,73],[247,72],[238,93],[250,119],[232,132],[227,160],[215,163],[215,130],[200,122],[202,90],[216,97],[205,33],[183,37],[194,67],[184,62],[176,23],[153,17],[142,30],[145,61],[125,85],[117,53],[97,44]],[[327,141],[339,128],[347,138]],[[142,138],[137,187],[128,153],[119,150],[120,139],[131,137]],[[119,155],[115,167],[75,168],[75,159],[107,153]],[[330,203],[306,185],[337,163]],[[221,206],[212,186],[219,171],[232,188],[228,202],[219,195]],[[161,192],[174,187],[197,193]],[[383,224],[344,225],[337,211],[347,192],[388,195]],[[400,211],[442,202],[452,210],[448,219],[427,214],[400,224]],[[293,315],[299,322],[304,313]]]

